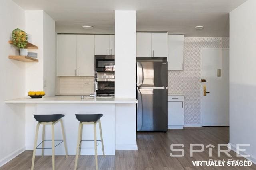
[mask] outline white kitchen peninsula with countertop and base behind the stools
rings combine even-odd
[[[81,96],[53,96],[40,99],[19,98],[6,100],[8,105],[26,104],[26,127],[25,146],[26,150],[33,149],[34,134],[37,122],[33,114],[64,114],[63,123],[66,133],[68,155],[76,155],[76,142],[78,125],[75,114],[102,113],[102,133],[106,155],[115,155],[115,150],[137,150],[136,143],[136,98],[114,98],[114,97],[84,97]],[[99,132],[97,126],[97,133]],[[39,134],[42,134],[40,129]],[[56,125],[55,140],[62,139],[61,127]],[[51,139],[50,127],[46,126],[46,140]],[[100,139],[100,135],[97,135]],[[84,125],[83,140],[93,139],[93,126]],[[39,135],[38,141],[42,141]],[[51,142],[46,143],[46,147]],[[62,144],[61,144],[62,145]],[[83,147],[93,147],[93,141],[84,141]],[[100,147],[100,144],[98,145]],[[55,148],[56,155],[64,155],[64,147]],[[99,155],[102,151],[99,149]],[[38,149],[36,155],[40,155]],[[51,155],[51,149],[45,149],[45,155]],[[94,155],[94,149],[82,149],[82,155]]]

